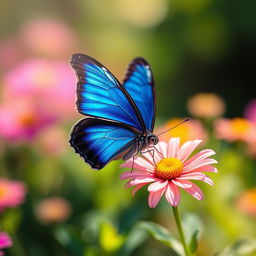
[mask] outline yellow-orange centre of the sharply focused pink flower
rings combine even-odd
[[[183,164],[176,158],[164,158],[156,164],[155,175],[160,179],[173,179],[182,173]]]

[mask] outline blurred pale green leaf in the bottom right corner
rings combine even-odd
[[[245,238],[236,241],[234,244],[226,247],[215,256],[245,256],[256,251],[256,240]]]

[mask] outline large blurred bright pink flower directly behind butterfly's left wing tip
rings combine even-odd
[[[4,82],[6,101],[33,99],[50,116],[60,120],[69,120],[76,113],[75,75],[67,62],[27,60],[9,71]]]

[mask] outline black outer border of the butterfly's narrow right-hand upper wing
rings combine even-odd
[[[126,71],[126,75],[125,75],[125,79],[123,81],[123,84],[125,82],[128,81],[128,79],[130,78],[130,76],[132,75],[132,73],[135,71],[135,67],[136,65],[139,64],[143,64],[145,66],[148,66],[151,72],[151,87],[152,87],[152,91],[153,91],[153,98],[154,98],[154,119],[153,119],[153,127],[155,126],[155,119],[156,119],[156,87],[155,87],[155,80],[154,80],[154,76],[153,76],[153,72],[152,72],[152,68],[150,66],[150,64],[142,57],[136,57],[134,58],[131,63],[129,64],[127,71]],[[125,89],[125,88],[124,88]],[[151,131],[153,132],[153,131]]]

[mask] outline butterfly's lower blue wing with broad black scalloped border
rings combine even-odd
[[[136,148],[137,135],[136,129],[123,124],[88,117],[75,124],[70,144],[92,168],[101,169],[118,155]]]

